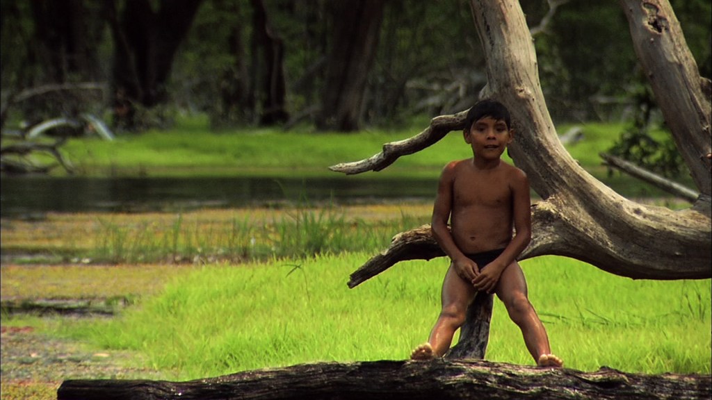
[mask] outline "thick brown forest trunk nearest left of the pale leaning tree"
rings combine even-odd
[[[360,127],[366,80],[383,19],[383,0],[343,0],[331,6],[333,43],[317,125],[320,130],[350,132]]]

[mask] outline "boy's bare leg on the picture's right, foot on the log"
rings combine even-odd
[[[529,302],[524,273],[516,261],[502,271],[496,293],[507,307],[511,320],[522,330],[524,343],[534,361],[543,367],[561,367],[562,361],[551,354],[546,330]]]

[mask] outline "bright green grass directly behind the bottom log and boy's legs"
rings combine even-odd
[[[370,254],[206,265],[108,322],[66,334],[145,355],[172,379],[318,361],[405,359],[439,312],[446,260],[400,263],[355,289]],[[709,280],[629,280],[576,260],[523,262],[530,300],[566,366],[627,372],[711,372]],[[533,364],[496,300],[487,359]]]

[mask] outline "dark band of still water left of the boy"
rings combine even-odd
[[[436,179],[2,177],[0,214],[176,211],[298,201],[353,204],[434,199],[435,191]]]

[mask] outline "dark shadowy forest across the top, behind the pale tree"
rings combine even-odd
[[[711,76],[711,4],[671,4]],[[555,122],[654,121],[619,4],[522,6]],[[4,103],[68,89],[7,107],[26,125],[93,112],[140,132],[199,112],[215,128],[349,132],[464,110],[486,83],[463,0],[4,0],[0,11]],[[95,85],[70,88],[80,83]]]

